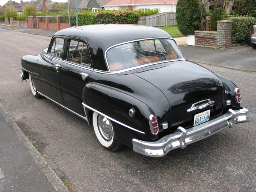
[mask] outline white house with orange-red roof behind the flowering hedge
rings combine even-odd
[[[150,10],[176,12],[177,0],[109,0],[101,7],[104,10]]]

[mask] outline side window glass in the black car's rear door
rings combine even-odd
[[[68,61],[72,61],[86,67],[91,67],[91,60],[87,45],[81,41],[69,41]]]

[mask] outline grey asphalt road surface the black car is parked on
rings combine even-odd
[[[0,102],[39,153],[73,191],[256,191],[256,73],[203,65],[242,91],[250,123],[150,158],[124,148],[103,149],[86,121],[21,83],[20,58],[37,54],[50,37],[0,29]]]

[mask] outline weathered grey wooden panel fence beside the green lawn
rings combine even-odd
[[[176,12],[163,12],[155,15],[141,16],[139,25],[146,26],[176,26]]]

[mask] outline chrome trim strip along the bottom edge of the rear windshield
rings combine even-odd
[[[143,67],[147,67],[147,66],[151,66],[151,65],[168,63],[168,62],[172,62],[172,61],[184,61],[184,60],[186,60],[186,59],[185,58],[180,58],[180,59],[163,60],[163,61],[158,61],[158,62],[154,62],[154,63],[148,63],[148,64],[139,65],[139,66],[135,66],[135,67],[127,68],[127,69],[122,69],[122,70],[118,70],[118,71],[102,71],[102,70],[98,70],[98,69],[94,69],[94,71],[102,73],[102,74],[119,74],[119,73],[123,73],[123,72],[127,72],[127,71],[132,71],[134,69],[139,69],[139,68],[143,68]]]

